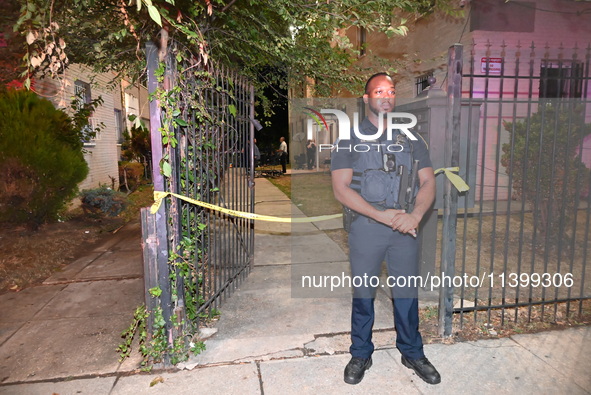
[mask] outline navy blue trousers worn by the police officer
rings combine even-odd
[[[386,225],[359,216],[351,224],[349,250],[354,285],[351,312],[352,344],[349,349],[351,355],[369,358],[374,351],[371,339],[375,286],[380,276],[382,262],[385,260],[389,284],[384,284],[385,279],[382,279],[377,286],[387,289],[388,285],[394,285],[391,287],[391,292],[394,299],[396,346],[408,359],[424,357],[423,340],[419,333],[416,286],[420,285],[417,282],[419,274],[417,240],[411,235],[401,234]]]

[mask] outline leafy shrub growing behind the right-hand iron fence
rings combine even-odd
[[[543,234],[547,230],[564,234],[564,224],[575,218],[578,209],[577,193],[588,188],[589,169],[580,151],[591,126],[585,123],[583,106],[577,104],[566,100],[541,104],[529,119],[504,122],[513,146],[503,144],[501,163],[513,175],[515,193],[538,208]]]

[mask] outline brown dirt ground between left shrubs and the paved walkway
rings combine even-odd
[[[128,196],[130,204],[117,217],[95,218],[74,209],[67,220],[33,231],[22,225],[0,224],[0,294],[39,284],[53,273],[100,245],[125,223],[139,221],[139,209],[151,204],[152,189]]]

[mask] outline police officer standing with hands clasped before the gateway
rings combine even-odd
[[[386,113],[395,105],[395,86],[386,73],[371,76],[365,86],[364,102],[368,116],[361,122],[359,131],[365,136],[376,135],[382,127],[379,141],[369,144],[353,137],[339,141],[340,147],[352,147],[365,143],[366,148],[335,149],[331,158],[333,191],[336,199],[352,210],[355,219],[349,229],[351,274],[353,278],[378,277],[385,260],[388,275],[401,277],[418,276],[418,244],[416,232],[423,215],[430,209],[435,198],[435,176],[426,144],[419,137],[411,140],[399,131],[394,131],[387,141]],[[380,125],[382,123],[382,125]],[[396,148],[387,147],[395,144]],[[400,175],[398,170],[418,160],[418,190],[411,212],[402,209],[397,201]],[[390,162],[390,163],[388,163]],[[403,166],[403,167],[400,167]],[[409,281],[410,283],[410,281]],[[416,286],[393,287],[394,322],[396,346],[402,354],[402,364],[416,372],[429,384],[437,384],[441,377],[423,353],[419,333],[418,289]],[[359,383],[372,364],[374,351],[372,327],[374,322],[375,287],[361,284],[354,289],[351,313],[351,360],[345,368],[345,382]]]

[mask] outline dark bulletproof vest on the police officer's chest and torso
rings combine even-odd
[[[413,163],[412,141],[398,131],[393,132],[392,139],[362,141],[356,136],[351,139],[354,160],[350,187],[368,203],[384,209],[402,207],[398,202],[400,166],[405,167],[404,177],[408,177]]]

